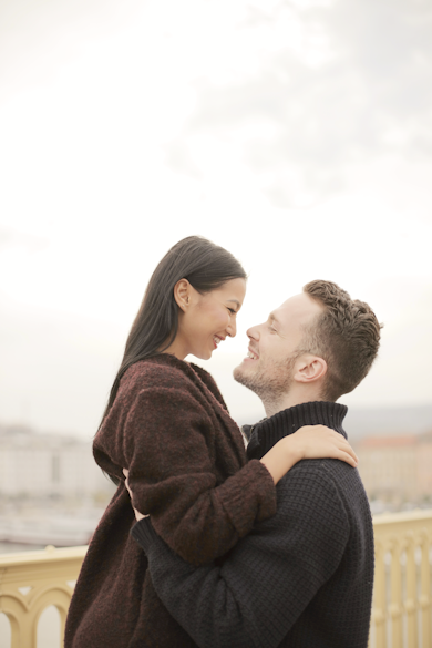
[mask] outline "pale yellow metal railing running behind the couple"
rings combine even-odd
[[[432,648],[432,511],[377,515],[370,648]],[[86,547],[0,556],[0,613],[10,648],[37,648],[38,623],[55,606],[61,636]],[[9,647],[8,647],[9,648]]]

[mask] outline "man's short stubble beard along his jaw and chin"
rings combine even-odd
[[[297,358],[297,354],[292,354],[285,360],[274,361],[268,367],[259,368],[258,366],[250,372],[244,372],[240,367],[236,367],[233,371],[234,380],[256,393],[267,409],[268,405],[277,404],[289,393]],[[254,360],[254,362],[259,362],[259,360]]]

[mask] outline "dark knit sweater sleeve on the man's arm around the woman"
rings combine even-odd
[[[198,646],[276,648],[338,568],[349,522],[329,477],[292,470],[278,485],[275,517],[258,524],[222,566],[185,563],[148,520],[132,534],[157,595]]]

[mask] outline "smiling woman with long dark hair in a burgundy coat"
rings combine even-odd
[[[130,536],[135,518],[123,469],[135,508],[152,516],[174,552],[200,565],[275,514],[275,485],[299,459],[356,464],[344,439],[322,426],[246,462],[214,380],[184,360],[207,359],[236,335],[245,291],[240,264],[199,237],[176,244],[156,267],[94,440],[96,462],[119,487],[83,563],[65,648],[194,646],[158,599],[145,554]]]

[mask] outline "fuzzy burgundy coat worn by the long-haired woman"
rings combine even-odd
[[[94,457],[123,480],[134,506],[194,565],[226,554],[255,522],[276,513],[276,488],[213,378],[158,354],[136,362],[94,440]],[[90,543],[72,597],[65,648],[188,648],[196,645],[157,597],[122,481]]]

